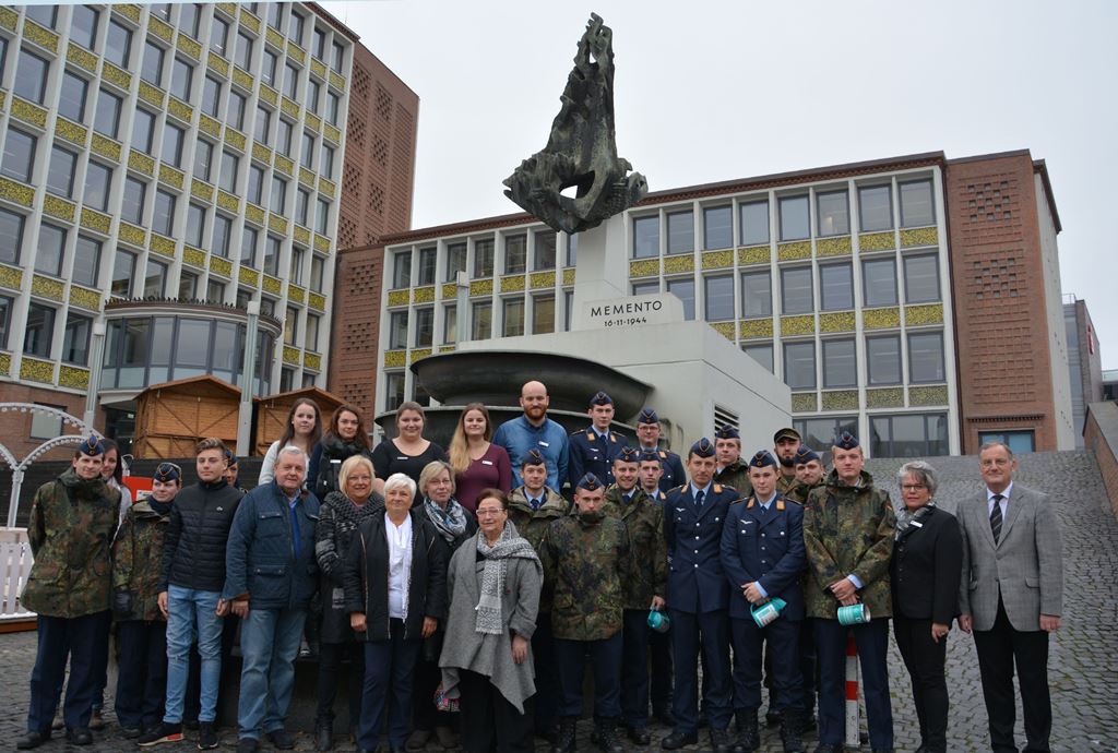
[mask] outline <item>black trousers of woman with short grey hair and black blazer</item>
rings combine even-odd
[[[928,753],[947,753],[947,636],[931,639],[931,620],[893,618],[893,636],[912,678],[912,703],[920,721],[920,742]]]

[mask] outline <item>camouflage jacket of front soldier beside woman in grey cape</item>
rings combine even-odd
[[[629,569],[628,532],[620,521],[568,515],[543,537],[543,579],[555,590],[551,630],[567,640],[601,640],[622,629],[622,581]]]

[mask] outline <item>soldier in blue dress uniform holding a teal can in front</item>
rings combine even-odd
[[[761,705],[761,647],[768,644],[780,713],[780,740],[786,753],[804,750],[799,740],[803,676],[799,673],[799,627],[804,619],[800,579],[804,554],[804,509],[776,490],[777,461],[766,450],[749,460],[754,493],[732,505],[722,528],[722,569],[730,583],[730,629],[733,636],[733,711],[747,753],[760,747],[757,709]],[[758,627],[751,608],[780,599],[779,617]],[[771,696],[770,696],[771,697]]]

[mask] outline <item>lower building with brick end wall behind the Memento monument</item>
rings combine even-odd
[[[809,444],[931,456],[1074,446],[1059,229],[1043,161],[937,152],[651,193],[608,250],[618,289],[678,296],[783,379]],[[569,330],[577,250],[523,213],[386,237],[368,408],[428,400],[408,366],[453,350],[459,317],[468,340]]]

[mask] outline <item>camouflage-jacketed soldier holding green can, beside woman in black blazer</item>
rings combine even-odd
[[[834,470],[826,485],[813,489],[804,505],[804,545],[811,570],[804,593],[808,617],[815,618],[819,660],[819,746],[837,753],[843,741],[846,630],[839,607],[865,604],[872,619],[850,628],[862,663],[870,745],[893,750],[885,656],[892,594],[889,562],[893,554],[897,515],[889,494],[862,470],[865,458],[858,438],[842,432],[832,447]]]

